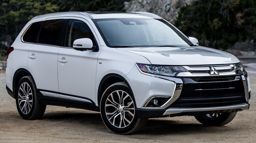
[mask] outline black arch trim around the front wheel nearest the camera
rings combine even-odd
[[[134,98],[134,94],[133,94],[133,91],[132,91],[132,88],[131,86],[129,85],[128,81],[121,75],[119,74],[116,74],[116,73],[109,73],[109,74],[106,74],[100,81],[99,83],[99,87],[98,87],[98,93],[97,93],[97,101],[98,101],[98,106],[100,106],[100,100],[101,100],[101,97],[102,95],[100,95],[100,91],[101,91],[101,88],[103,86],[103,83],[109,78],[109,77],[117,77],[117,78],[120,78],[121,80],[123,80],[127,86],[129,87],[130,91],[131,91],[131,96],[132,98],[134,99],[134,104],[135,104],[135,108],[137,108],[136,106],[136,101],[135,101],[135,98]]]

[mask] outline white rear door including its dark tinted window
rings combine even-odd
[[[57,61],[65,18],[46,19],[29,49],[28,70],[37,89],[58,92]]]

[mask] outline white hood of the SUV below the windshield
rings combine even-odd
[[[117,49],[144,56],[153,65],[215,65],[240,62],[232,54],[202,46]]]

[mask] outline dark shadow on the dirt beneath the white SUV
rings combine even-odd
[[[86,128],[96,129],[102,132],[112,133],[104,125],[100,113],[72,113],[72,112],[57,112],[46,113],[42,120],[65,122],[70,124],[80,124],[86,126]],[[217,130],[216,130],[217,129]],[[229,126],[205,126],[198,123],[191,123],[181,120],[172,120],[172,118],[149,119],[146,126],[139,132],[133,134],[137,135],[176,135],[176,134],[207,134],[207,133],[219,133],[233,130]],[[138,136],[139,137],[139,136]]]

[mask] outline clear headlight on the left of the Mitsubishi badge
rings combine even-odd
[[[164,76],[176,76],[180,72],[187,71],[181,66],[158,66],[137,63],[139,69],[146,73],[159,74]]]

